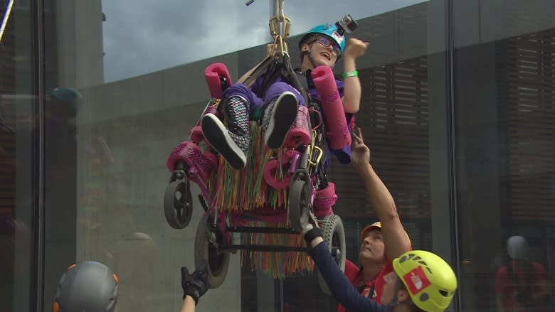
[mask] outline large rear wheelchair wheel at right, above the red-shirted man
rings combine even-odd
[[[341,218],[339,215],[327,215],[319,223],[322,233],[324,233],[324,241],[327,243],[329,251],[332,252],[332,257],[339,268],[345,271],[345,232]],[[324,293],[332,294],[320,272],[318,272],[318,283]]]

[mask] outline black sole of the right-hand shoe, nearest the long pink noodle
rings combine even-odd
[[[264,134],[266,146],[279,149],[285,143],[285,136],[297,118],[299,104],[292,92],[283,92],[277,97],[268,129]]]

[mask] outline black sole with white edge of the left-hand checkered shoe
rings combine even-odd
[[[206,114],[201,119],[204,138],[236,170],[245,168],[246,156],[228,134],[226,126],[214,114]],[[241,156],[243,154],[243,157]]]

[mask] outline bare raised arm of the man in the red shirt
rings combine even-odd
[[[372,208],[381,222],[386,256],[388,259],[395,259],[408,252],[411,249],[411,241],[401,224],[393,196],[371,165],[370,149],[364,144],[360,128],[353,131],[351,162],[359,172]]]

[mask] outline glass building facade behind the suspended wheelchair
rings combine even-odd
[[[51,311],[60,276],[85,260],[120,277],[117,311],[179,311],[203,209],[193,186],[191,225],[168,225],[166,159],[203,112],[206,66],[225,63],[236,80],[263,60],[274,2],[0,0],[3,311]],[[381,2],[285,1],[292,65],[312,26],[358,21],[352,36],[370,45],[356,124],[413,248],[455,269],[450,311],[498,311],[512,235],[551,291],[555,2]],[[53,102],[65,87],[80,97]],[[332,161],[329,178],[356,262],[376,216],[351,166]],[[199,311],[335,311],[316,274],[274,279],[230,258]]]

